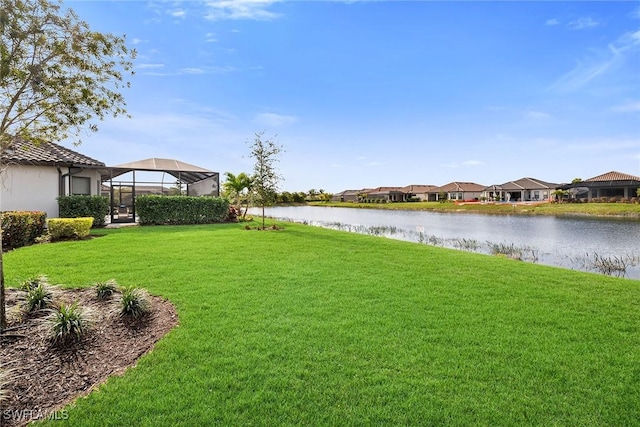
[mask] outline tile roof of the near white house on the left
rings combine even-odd
[[[18,164],[104,167],[105,164],[53,142],[35,145],[16,140],[2,154],[2,161]]]

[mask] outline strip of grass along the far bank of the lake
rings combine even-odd
[[[312,202],[314,206],[333,206],[361,209],[423,210],[437,212],[478,212],[483,214],[526,214],[526,215],[595,215],[621,216],[640,219],[638,203],[348,203]]]

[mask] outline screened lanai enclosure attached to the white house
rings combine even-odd
[[[111,201],[112,223],[135,222],[136,196],[141,194],[220,195],[218,172],[174,159],[151,158],[109,166],[101,170],[101,176],[102,192]]]

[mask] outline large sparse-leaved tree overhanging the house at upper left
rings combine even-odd
[[[135,50],[124,37],[91,31],[61,5],[0,0],[0,154],[17,138],[80,144],[81,133],[98,130],[96,119],[128,116],[120,91],[129,86]],[[0,331],[6,328],[2,266],[0,251]]]

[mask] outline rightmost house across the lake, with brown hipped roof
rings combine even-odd
[[[594,176],[584,181],[564,185],[563,190],[572,189],[580,197],[584,194],[591,201],[593,199],[631,199],[638,197],[637,191],[640,188],[640,177],[621,172],[611,171],[602,175]]]

